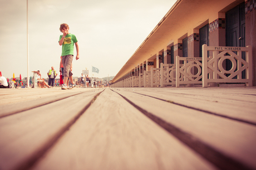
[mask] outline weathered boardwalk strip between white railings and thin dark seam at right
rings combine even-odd
[[[175,104],[208,111],[212,114],[227,116],[256,125],[255,88],[124,88],[131,92],[149,95]],[[249,95],[252,94],[252,95]]]

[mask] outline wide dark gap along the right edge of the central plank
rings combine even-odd
[[[118,92],[116,93],[119,94]],[[119,95],[123,97],[127,102],[129,102],[132,106],[134,106],[136,109],[138,109],[142,114],[149,117],[149,119],[157,123],[159,126],[163,127],[166,131],[171,133],[171,135],[178,138],[178,140],[185,143],[185,145],[190,147],[195,152],[199,153],[206,160],[213,163],[216,167],[220,169],[253,169],[252,167],[249,167],[247,164],[244,164],[235,158],[229,157],[224,153],[215,150],[213,147],[209,146],[203,141],[200,141],[198,138],[191,135],[190,133],[186,133],[180,130],[180,128],[164,121],[160,117],[157,117],[154,114],[142,109],[141,107],[134,104],[134,102],[127,99],[125,96],[122,96],[121,94]]]

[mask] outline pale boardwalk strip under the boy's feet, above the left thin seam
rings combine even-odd
[[[82,92],[99,91],[100,89],[75,88],[72,89],[72,91],[61,90],[60,88],[29,89],[29,91],[27,89],[10,90],[0,91],[0,117],[50,104],[58,100],[66,99],[70,96],[81,94]]]

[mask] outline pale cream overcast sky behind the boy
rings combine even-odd
[[[0,71],[27,77],[27,1],[0,0]],[[29,76],[60,68],[61,23],[75,34],[80,59],[73,76],[89,70],[98,78],[115,76],[176,0],[28,0]],[[92,73],[92,66],[100,70]],[[60,75],[60,73],[58,72]]]

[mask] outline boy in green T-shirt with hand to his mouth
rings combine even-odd
[[[63,71],[63,85],[61,87],[62,90],[73,89],[75,87],[75,83],[73,81],[73,74],[71,73],[71,63],[73,60],[73,53],[74,53],[74,43],[76,45],[76,60],[79,59],[79,47],[77,43],[76,36],[74,34],[69,33],[70,27],[68,24],[61,24],[60,31],[63,35],[60,35],[60,40],[58,44],[62,45],[62,53],[61,53],[61,60],[64,67]],[[67,80],[70,78],[71,85],[67,87]]]

